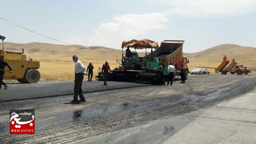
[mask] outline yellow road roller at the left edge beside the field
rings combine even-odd
[[[0,55],[4,56],[4,61],[11,66],[13,71],[13,73],[5,72],[4,80],[18,80],[20,83],[37,83],[40,80],[40,73],[37,70],[40,67],[40,62],[33,61],[32,58],[27,60],[24,49],[21,49],[22,52],[4,51],[5,37],[0,35],[0,39],[2,39]],[[9,68],[5,67],[5,71],[9,71]]]

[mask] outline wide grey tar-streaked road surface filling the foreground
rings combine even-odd
[[[0,102],[0,143],[256,142],[256,75],[201,75],[173,86],[104,88],[92,87],[85,92],[87,102],[79,104],[62,92],[36,99],[21,92],[23,100]],[[9,109],[28,108],[35,109],[35,135],[10,135]]]

